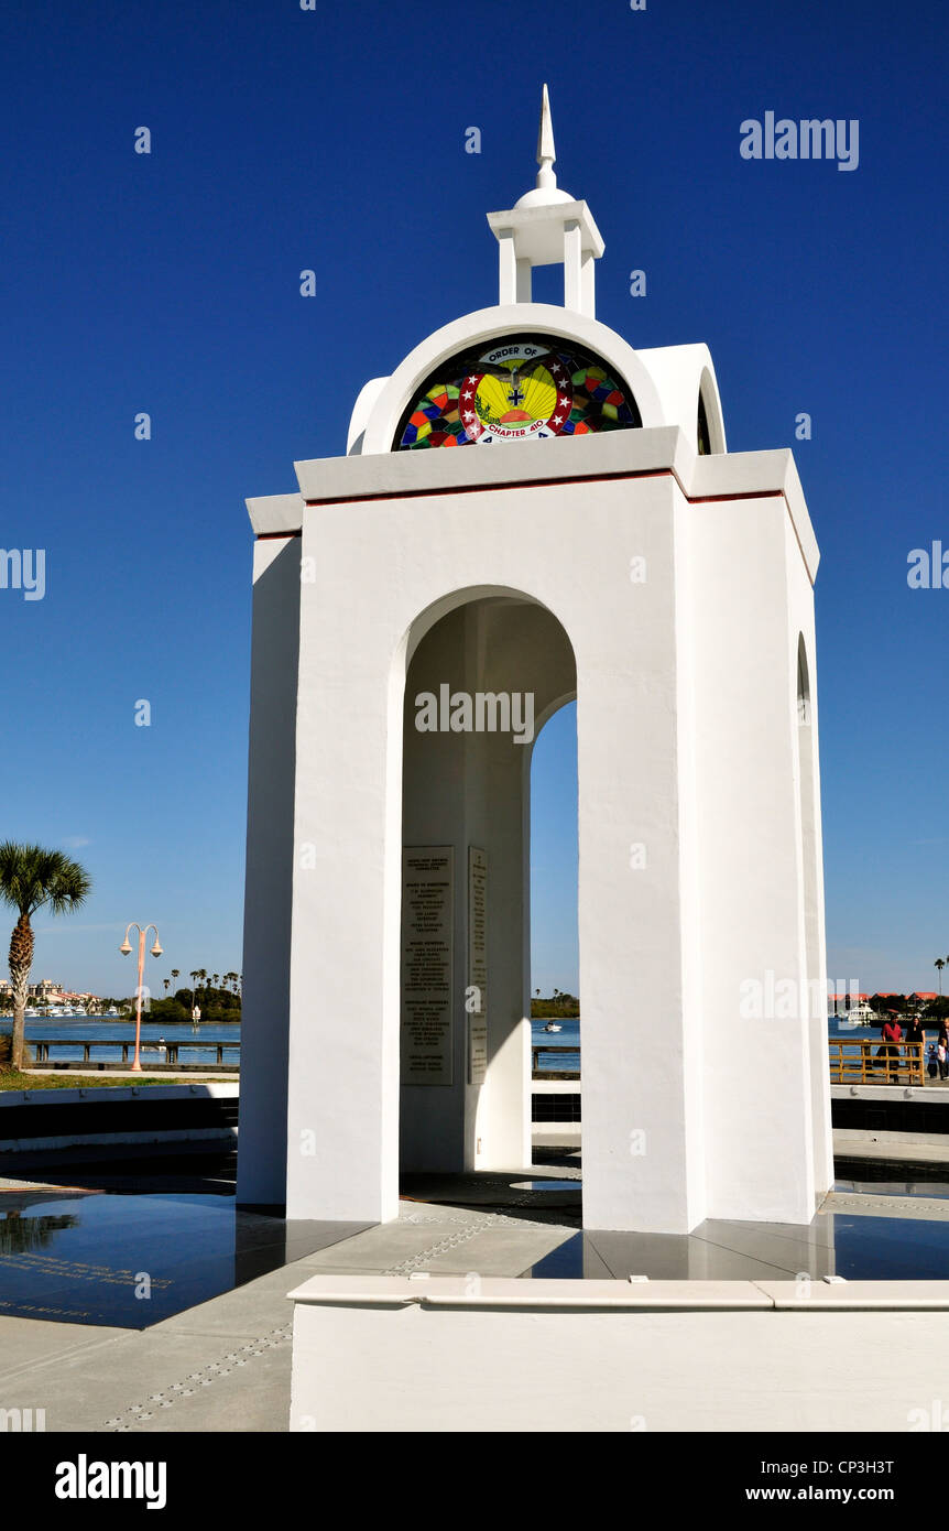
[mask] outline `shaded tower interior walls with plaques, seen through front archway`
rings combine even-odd
[[[479,588],[406,654],[399,1164],[530,1168],[530,759],[574,652],[537,600]]]

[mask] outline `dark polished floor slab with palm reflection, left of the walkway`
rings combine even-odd
[[[5,1191],[0,1314],[147,1329],[354,1231],[220,1194]]]

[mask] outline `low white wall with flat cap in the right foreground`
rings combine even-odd
[[[318,1275],[289,1295],[291,1431],[902,1433],[949,1399],[949,1281]]]

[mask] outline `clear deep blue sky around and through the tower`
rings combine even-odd
[[[129,919],[158,920],[159,974],[240,966],[243,498],[343,452],[366,378],[496,300],[485,213],[531,184],[546,80],[560,182],[606,239],[598,317],[707,341],[733,450],[813,416],[828,968],[935,986],[949,591],[909,591],[906,554],[949,547],[947,32],[882,0],[3,9],[0,540],[46,550],[47,591],[0,591],[0,831],[95,879],[38,917],[35,977],[129,992]],[[859,168],[742,159],[767,110],[857,118]],[[566,712],[534,772],[545,992],[577,987],[571,750]]]

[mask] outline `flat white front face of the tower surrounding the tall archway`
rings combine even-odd
[[[504,472],[502,453],[485,462],[490,478]],[[303,847],[312,857],[308,870],[297,859],[294,888],[291,1216],[395,1209],[395,1133],[383,1102],[398,1087],[403,828],[387,790],[390,773],[399,781],[403,720],[389,683],[395,666],[401,709],[406,634],[465,586],[523,589],[559,617],[577,655],[591,1219],[681,1231],[704,1216],[683,1179],[673,493],[663,478],[585,485],[583,514],[569,482],[308,510],[303,554],[315,556],[315,580],[302,588],[297,758],[306,772],[295,837],[298,857]],[[629,580],[635,553],[652,570],[641,588]],[[357,605],[358,588],[372,599]],[[634,839],[649,845],[646,877],[629,868]],[[302,1156],[308,1130],[318,1148]],[[641,1157],[631,1154],[634,1130],[647,1133]]]

